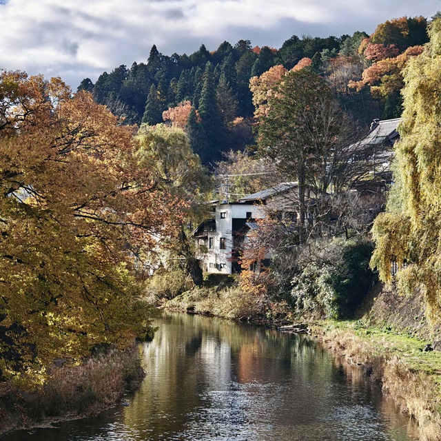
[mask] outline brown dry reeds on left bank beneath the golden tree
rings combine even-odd
[[[82,365],[60,360],[34,391],[0,382],[0,435],[14,429],[95,416],[139,387],[145,372],[136,345],[98,353]]]

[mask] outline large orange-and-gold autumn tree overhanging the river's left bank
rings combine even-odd
[[[139,166],[133,131],[60,79],[1,72],[2,378],[148,331],[144,257],[185,203]]]

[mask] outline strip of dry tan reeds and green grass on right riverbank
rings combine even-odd
[[[441,440],[440,353],[422,352],[424,342],[352,322],[313,327],[322,345],[382,384],[382,391],[413,418],[422,441]],[[386,335],[385,335],[386,334]]]

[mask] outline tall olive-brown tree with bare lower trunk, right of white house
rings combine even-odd
[[[305,224],[308,173],[318,167],[325,153],[317,151],[325,137],[325,130],[316,133],[322,128],[316,125],[317,116],[325,114],[322,108],[326,110],[332,101],[331,90],[320,76],[307,70],[291,71],[271,94],[267,114],[260,116],[260,154],[274,158],[285,176],[298,181],[301,226]]]

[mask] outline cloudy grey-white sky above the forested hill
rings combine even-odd
[[[440,0],[0,0],[0,68],[85,76],[205,43],[250,39],[280,48],[292,34],[371,33],[403,15],[431,17]]]

